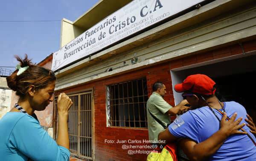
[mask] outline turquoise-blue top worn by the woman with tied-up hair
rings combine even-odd
[[[0,160],[69,161],[70,152],[58,144],[26,113],[9,112],[0,119]]]

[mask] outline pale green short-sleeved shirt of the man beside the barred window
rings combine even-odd
[[[148,136],[149,140],[158,140],[158,134],[164,130],[163,126],[159,124],[152,116],[154,115],[163,122],[163,124],[170,124],[171,120],[166,113],[172,108],[160,94],[153,92],[147,102],[147,118],[148,118]],[[148,112],[150,110],[151,114]]]

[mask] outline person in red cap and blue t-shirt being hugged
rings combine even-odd
[[[246,110],[237,102],[220,102],[212,79],[203,74],[191,75],[175,85],[175,90],[183,92],[194,110],[178,116],[158,139],[172,142],[184,138],[181,146],[192,160],[256,160],[256,138],[244,126]]]

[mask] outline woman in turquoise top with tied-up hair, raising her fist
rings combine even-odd
[[[58,97],[58,138],[53,140],[40,126],[34,111],[53,101],[55,74],[32,64],[25,56],[7,77],[9,88],[19,96],[15,107],[0,120],[0,158],[3,161],[69,161],[68,110],[71,99]]]

